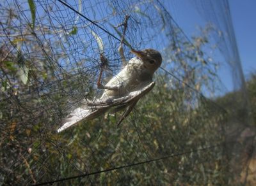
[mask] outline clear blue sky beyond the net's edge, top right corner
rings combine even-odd
[[[244,75],[256,71],[256,1],[229,1]]]

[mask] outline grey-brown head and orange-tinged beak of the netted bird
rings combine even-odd
[[[141,59],[145,68],[154,73],[162,63],[162,56],[157,50],[147,48],[145,50],[131,50],[132,54],[135,54]]]

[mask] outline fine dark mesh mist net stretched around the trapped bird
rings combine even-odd
[[[194,36],[172,16],[177,1],[0,2],[0,183],[241,182],[252,136],[241,138],[248,104],[227,1],[190,2],[207,19]],[[122,69],[123,36],[127,61],[131,48],[161,52],[154,89],[119,126],[122,111],[57,133],[70,110],[101,96],[100,54],[103,83]],[[223,65],[236,90],[228,103]]]

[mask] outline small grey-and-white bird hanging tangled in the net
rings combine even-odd
[[[119,50],[119,52],[122,58],[124,56],[123,50]],[[62,120],[63,125],[58,129],[58,132],[84,120],[97,118],[110,108],[113,108],[113,113],[125,110],[117,125],[131,113],[139,99],[154,87],[153,75],[163,61],[160,52],[152,48],[131,49],[131,53],[135,57],[129,62],[125,62],[125,59],[122,58],[124,67],[106,85],[100,83],[102,72],[100,73],[97,85],[99,89],[104,89],[102,96],[99,99],[84,101],[82,106],[73,110],[68,118]]]

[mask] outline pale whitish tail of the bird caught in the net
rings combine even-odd
[[[72,111],[72,113],[70,113],[70,117],[63,119],[63,125],[58,129],[58,132],[64,131],[68,127],[76,125],[82,120],[91,120],[93,118],[99,117],[102,115],[102,113],[105,113],[106,110],[106,108],[97,110],[76,108],[74,111]]]

